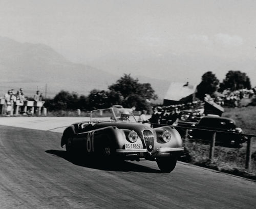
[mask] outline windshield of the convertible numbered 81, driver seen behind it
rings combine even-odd
[[[137,122],[131,109],[109,108],[91,111],[91,122]]]

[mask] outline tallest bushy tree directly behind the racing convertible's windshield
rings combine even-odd
[[[148,109],[148,101],[157,99],[155,91],[150,83],[139,83],[138,78],[131,77],[131,74],[124,74],[113,85],[109,86],[110,94],[119,94],[122,96],[121,105],[137,110]]]

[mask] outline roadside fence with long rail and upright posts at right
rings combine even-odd
[[[174,128],[180,128],[180,129],[184,129],[185,130],[185,138],[188,138],[188,130],[200,130],[200,131],[208,131],[208,132],[212,132],[212,136],[210,139],[210,150],[209,150],[209,160],[212,160],[214,158],[214,151],[215,151],[215,143],[216,143],[216,134],[217,133],[229,133],[228,131],[217,131],[217,130],[212,130],[212,129],[198,129],[198,128],[194,128],[194,127],[184,127],[184,126],[173,126],[173,125],[167,125],[167,124],[158,124],[158,123],[151,123],[151,122],[146,122],[146,123],[150,123],[156,126],[169,126],[169,127],[174,127]],[[256,137],[255,134],[242,134],[242,133],[233,133],[232,135],[240,135],[240,136],[246,136],[246,142],[247,142],[247,146],[246,146],[246,158],[245,158],[245,169],[250,170],[251,169],[251,138]]]

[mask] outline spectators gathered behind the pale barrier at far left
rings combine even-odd
[[[19,106],[20,108],[19,112],[27,114],[27,111],[25,112],[25,109],[23,107],[24,102],[26,100],[28,99],[25,97],[23,88],[20,88],[16,93],[14,89],[8,90],[8,92],[4,95],[4,104],[1,110],[2,114],[10,115],[16,106]],[[40,94],[40,91],[37,90],[36,94],[33,97],[33,100],[42,101],[43,100],[42,93]]]

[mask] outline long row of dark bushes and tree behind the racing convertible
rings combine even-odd
[[[150,110],[151,99],[157,99],[157,95],[150,83],[140,83],[131,74],[124,74],[108,90],[93,89],[88,96],[62,90],[54,98],[46,99],[45,107],[49,110],[91,111],[122,105],[134,106],[136,110]]]

